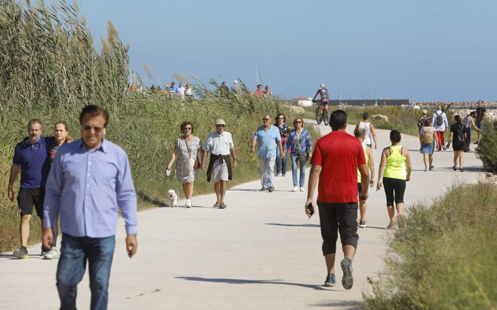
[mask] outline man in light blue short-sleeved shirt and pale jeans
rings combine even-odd
[[[283,146],[281,144],[281,135],[278,127],[271,125],[271,116],[264,115],[263,125],[257,128],[253,136],[250,152],[255,153],[255,144],[259,149],[257,157],[259,158],[260,182],[262,183],[261,192],[268,190],[274,191],[274,162],[276,161],[276,146],[280,150],[280,158],[283,158]]]

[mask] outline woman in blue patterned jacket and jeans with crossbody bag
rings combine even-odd
[[[293,189],[292,192],[299,190],[304,192],[304,183],[306,181],[306,161],[299,161],[300,166],[300,180],[297,183],[297,161],[298,155],[309,152],[312,155],[312,141],[309,132],[304,128],[304,120],[297,117],[293,120],[294,130],[290,132],[288,139],[285,143],[285,153],[291,150],[290,159],[292,160],[292,176],[293,176]],[[300,146],[300,149],[299,149]]]

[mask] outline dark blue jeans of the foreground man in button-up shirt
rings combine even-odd
[[[78,283],[83,279],[86,260],[90,276],[91,310],[107,309],[110,265],[115,237],[73,237],[62,235],[61,257],[57,267],[57,290],[62,310],[76,309]]]

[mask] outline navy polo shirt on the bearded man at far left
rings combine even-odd
[[[21,188],[45,187],[50,171],[49,148],[54,143],[54,137],[40,136],[33,145],[26,138],[15,146],[12,163],[21,167]]]

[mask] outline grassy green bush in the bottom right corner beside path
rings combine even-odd
[[[497,307],[497,186],[453,186],[410,209],[389,240],[387,271],[369,279],[370,310]]]

